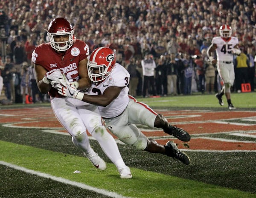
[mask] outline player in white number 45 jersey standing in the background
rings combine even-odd
[[[213,64],[217,64],[218,74],[220,75],[224,85],[220,93],[215,96],[221,106],[224,105],[222,96],[225,94],[227,98],[228,109],[236,109],[231,103],[230,87],[233,86],[235,80],[235,72],[233,65],[233,55],[240,55],[241,50],[238,47],[239,40],[232,37],[232,28],[228,25],[220,27],[220,36],[212,38],[212,44],[207,49],[209,60]],[[217,60],[211,55],[216,52]]]

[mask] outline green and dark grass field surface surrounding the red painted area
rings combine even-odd
[[[154,109],[230,113],[226,103],[219,106],[214,95],[138,100]],[[255,92],[232,94],[232,101],[236,111],[256,112]],[[1,109],[29,107],[50,109],[49,103],[0,106],[0,119],[5,116]],[[256,143],[253,137],[236,138]],[[108,163],[105,171],[94,168],[68,135],[0,124],[0,198],[256,198],[255,152],[188,151],[191,164],[186,166],[164,155],[118,144],[133,174],[132,179],[121,180],[99,144],[90,143]],[[73,173],[76,170],[81,173]]]

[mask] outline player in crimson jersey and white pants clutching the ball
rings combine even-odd
[[[56,118],[94,166],[106,169],[105,161],[90,147],[86,130],[96,138],[102,150],[116,165],[120,177],[131,178],[131,171],[125,165],[114,138],[103,125],[98,108],[64,97],[55,89],[63,75],[77,89],[86,89],[91,85],[87,75],[89,48],[83,41],[75,39],[73,34],[72,25],[64,18],[55,18],[49,24],[47,35],[50,42],[37,46],[32,53],[38,88],[42,93],[49,93]]]

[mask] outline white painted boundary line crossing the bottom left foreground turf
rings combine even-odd
[[[91,187],[91,186],[88,186],[86,184],[82,184],[80,182],[70,181],[70,180],[67,180],[67,179],[64,179],[64,178],[61,178],[61,177],[55,177],[53,175],[49,175],[49,174],[46,174],[46,173],[43,173],[43,172],[38,172],[38,171],[26,169],[24,167],[16,166],[14,164],[10,164],[10,163],[7,163],[5,161],[0,161],[0,164],[2,164],[4,166],[8,166],[8,167],[16,169],[16,170],[26,172],[26,173],[30,173],[30,174],[33,174],[33,175],[38,175],[38,176],[43,177],[43,178],[50,178],[54,181],[58,181],[58,182],[61,182],[63,184],[69,184],[69,185],[72,185],[72,186],[75,186],[75,187],[79,187],[79,188],[82,188],[82,189],[97,192],[99,194],[106,195],[106,196],[109,196],[109,197],[113,197],[113,198],[131,198],[131,197],[125,197],[125,196],[119,195],[116,192],[110,192],[110,191],[107,191],[107,190],[104,190],[104,189]]]

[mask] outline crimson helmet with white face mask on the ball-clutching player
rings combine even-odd
[[[47,35],[53,49],[63,52],[69,49],[73,44],[74,30],[72,25],[64,18],[55,18],[48,26]],[[68,35],[68,41],[55,42],[54,37]]]

